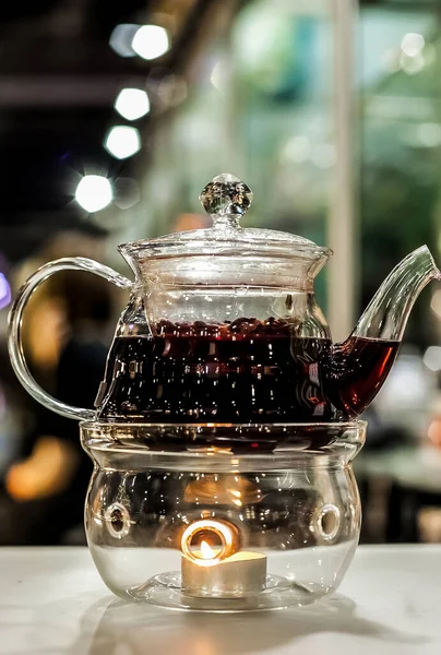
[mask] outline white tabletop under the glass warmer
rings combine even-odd
[[[439,655],[441,546],[360,547],[303,609],[208,615],[112,596],[85,548],[0,549],[1,655]]]

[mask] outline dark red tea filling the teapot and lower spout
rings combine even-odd
[[[358,337],[333,346],[276,319],[163,322],[154,336],[115,341],[99,414],[167,424],[348,419],[378,393],[397,348]]]

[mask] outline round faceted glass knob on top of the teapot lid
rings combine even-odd
[[[229,172],[213,178],[199,196],[205,212],[211,215],[214,227],[238,226],[238,217],[250,209],[252,199],[251,189]]]

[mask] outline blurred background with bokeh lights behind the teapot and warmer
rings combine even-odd
[[[0,544],[83,543],[78,426],[21,389],[8,308],[40,264],[204,223],[221,171],[249,226],[335,251],[344,338],[391,269],[441,262],[439,0],[22,0],[0,13]],[[98,281],[99,282],[99,281]],[[26,310],[36,379],[92,406],[122,293],[55,277]],[[412,314],[356,462],[365,541],[441,541],[441,287]]]

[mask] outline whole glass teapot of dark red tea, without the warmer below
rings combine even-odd
[[[239,225],[253,194],[224,174],[200,200],[208,229],[119,247],[134,282],[84,258],[39,269],[10,314],[9,348],[26,390],[75,419],[269,425],[351,419],[380,390],[409,311],[440,275],[426,246],[384,281],[350,336],[333,344],[313,291],[332,251],[289,234]],[[128,289],[95,409],[48,395],[32,378],[22,314],[49,275],[81,270]]]

